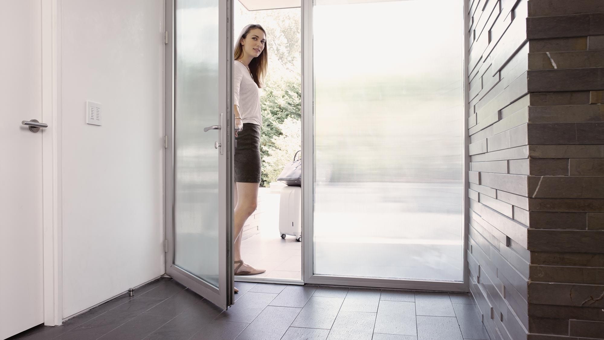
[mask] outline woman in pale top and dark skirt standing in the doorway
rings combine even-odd
[[[241,238],[243,224],[255,211],[260,186],[260,93],[266,74],[268,55],[266,31],[260,25],[247,25],[237,39],[233,66],[233,111],[237,149],[235,150],[234,190],[234,272],[254,275],[257,269],[243,262]],[[235,289],[235,292],[238,290]]]

